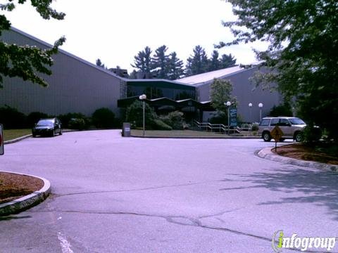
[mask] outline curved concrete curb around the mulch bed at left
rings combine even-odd
[[[15,173],[12,171],[1,171],[1,172],[32,176],[28,174]],[[33,207],[39,204],[40,202],[44,201],[46,197],[48,197],[49,193],[51,192],[51,183],[47,179],[43,179],[39,176],[32,176],[32,177],[35,177],[37,179],[41,179],[42,181],[44,181],[44,186],[40,190],[37,190],[34,193],[31,193],[30,195],[26,195],[25,197],[20,197],[11,202],[0,204],[0,216],[17,214],[18,212],[22,212],[25,209],[28,209],[30,207]]]

